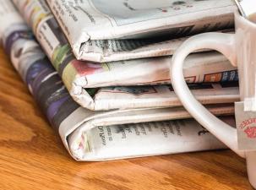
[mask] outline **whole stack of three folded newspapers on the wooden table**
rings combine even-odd
[[[231,0],[12,2],[0,0],[3,47],[75,160],[226,148],[189,119],[169,64],[189,35],[231,32]],[[237,68],[201,50],[184,74],[198,100],[234,125]]]

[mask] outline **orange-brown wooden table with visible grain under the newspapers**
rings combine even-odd
[[[252,189],[230,150],[79,163],[0,49],[0,189]]]

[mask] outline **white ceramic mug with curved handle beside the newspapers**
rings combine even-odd
[[[248,178],[256,187],[256,151],[237,149],[237,129],[221,122],[195,100],[182,73],[184,59],[189,53],[204,48],[221,52],[238,68],[240,96],[242,101],[247,101],[246,109],[256,111],[256,100],[253,98],[256,93],[256,24],[238,13],[235,14],[235,24],[235,34],[204,33],[185,41],[172,57],[170,77],[177,96],[189,113],[237,155],[247,160]]]

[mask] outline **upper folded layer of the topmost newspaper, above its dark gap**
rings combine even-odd
[[[65,32],[84,41],[215,30],[230,24],[230,17],[237,9],[231,0],[47,0],[47,3]]]

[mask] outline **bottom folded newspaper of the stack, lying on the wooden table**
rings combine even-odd
[[[226,148],[182,107],[90,111],[71,99],[62,80],[9,0],[0,0],[0,39],[75,160],[113,160]],[[215,115],[231,114],[233,106],[210,106]],[[233,117],[222,117],[234,124]],[[154,122],[155,121],[155,122]]]

